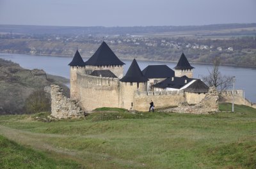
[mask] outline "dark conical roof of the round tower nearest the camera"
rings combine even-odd
[[[147,82],[148,79],[143,76],[140,67],[135,59],[127,71],[126,75],[120,79],[121,82]]]

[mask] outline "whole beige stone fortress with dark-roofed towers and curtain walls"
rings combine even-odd
[[[136,59],[123,75],[120,61],[105,41],[84,62],[78,50],[70,66],[70,97],[85,112],[100,107],[148,111],[150,100],[156,108],[179,103],[199,103],[209,87],[193,78],[193,67],[182,53],[175,71],[166,65],[150,65],[141,71]]]

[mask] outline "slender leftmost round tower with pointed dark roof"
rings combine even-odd
[[[70,98],[77,99],[77,73],[83,73],[85,68],[83,58],[79,54],[78,50],[76,50],[76,54],[68,65],[70,66]]]

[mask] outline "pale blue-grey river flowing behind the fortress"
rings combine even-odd
[[[48,55],[25,55],[25,54],[4,54],[0,53],[0,58],[17,62],[23,68],[27,69],[42,69],[46,73],[52,75],[58,75],[61,77],[69,78],[68,63],[72,61],[72,57],[54,57]],[[86,61],[86,59],[84,59]],[[125,62],[124,74],[131,65],[131,61]],[[148,65],[154,64],[166,64],[170,68],[176,66],[176,62],[159,62],[159,61],[138,61],[138,64],[143,70]],[[195,67],[194,78],[200,78],[205,75],[209,75],[209,71],[212,69],[208,64],[191,64]],[[243,89],[245,91],[245,98],[250,99],[253,103],[256,103],[256,68],[239,68],[236,66],[221,66],[220,71],[222,75],[228,75],[236,77],[236,89]]]

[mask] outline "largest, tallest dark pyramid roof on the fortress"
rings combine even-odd
[[[96,50],[95,54],[85,62],[86,65],[100,66],[100,65],[124,65],[114,54],[107,43],[103,41],[100,47]]]

